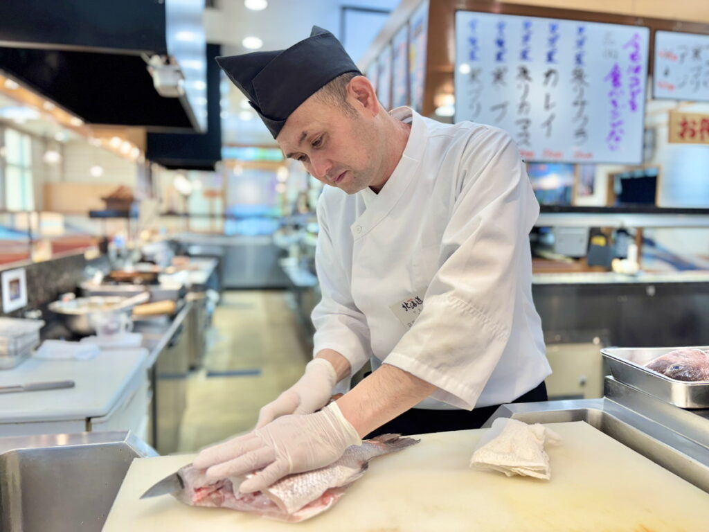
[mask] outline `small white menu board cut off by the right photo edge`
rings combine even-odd
[[[655,32],[655,98],[709,101],[709,35]]]

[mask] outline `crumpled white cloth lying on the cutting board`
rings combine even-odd
[[[498,418],[480,438],[470,465],[500,471],[508,477],[525,475],[549,480],[552,470],[544,445],[561,440],[561,436],[540,423],[527,425],[516,419]]]

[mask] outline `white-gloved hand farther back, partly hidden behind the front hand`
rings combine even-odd
[[[337,373],[333,365],[324,358],[311,360],[296,384],[259,411],[256,428],[286,414],[312,414],[323,408],[328,404],[335,384]]]

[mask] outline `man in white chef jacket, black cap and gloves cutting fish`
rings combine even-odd
[[[372,433],[477,428],[545,401],[528,233],[539,206],[518,149],[491,126],[387,112],[328,31],[217,58],[318,202],[315,357],[251,433],[194,460],[254,492],[324,467]],[[277,331],[274,331],[277,333]],[[330,402],[367,361],[372,374]]]

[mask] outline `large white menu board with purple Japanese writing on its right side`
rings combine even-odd
[[[455,121],[525,160],[642,162],[649,28],[458,11]]]

